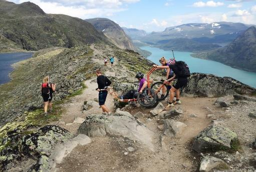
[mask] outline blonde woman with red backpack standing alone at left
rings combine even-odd
[[[44,83],[41,85],[41,94],[44,99],[44,110],[45,115],[47,115],[47,108],[49,105],[49,112],[52,112],[52,100],[53,92],[55,92],[56,84],[49,83],[49,76],[44,78]]]

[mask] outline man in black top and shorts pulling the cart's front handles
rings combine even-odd
[[[110,113],[109,109],[105,105],[105,101],[108,95],[108,91],[106,89],[111,85],[111,81],[106,76],[102,75],[100,69],[96,70],[96,75],[98,83],[98,88],[96,88],[96,90],[99,91],[99,105],[102,108],[103,113]]]

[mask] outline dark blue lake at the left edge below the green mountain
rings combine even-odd
[[[14,63],[32,57],[32,52],[0,53],[0,84],[10,81],[9,73],[13,71]]]

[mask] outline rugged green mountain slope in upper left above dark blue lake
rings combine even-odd
[[[109,42],[89,22],[63,14],[47,14],[32,2],[0,0],[1,48],[39,50]],[[8,40],[7,40],[8,39]]]

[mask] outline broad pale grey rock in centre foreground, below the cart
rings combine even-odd
[[[117,110],[110,116],[89,115],[79,127],[78,133],[89,137],[123,136],[137,140],[153,150],[152,132],[144,125],[138,124],[136,119],[125,111]]]

